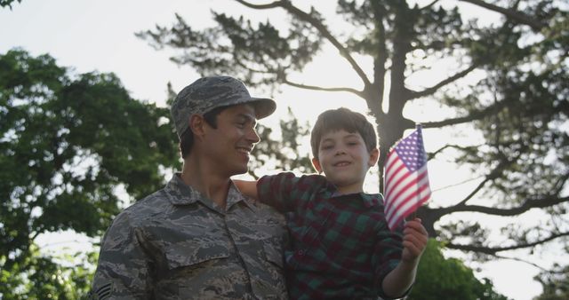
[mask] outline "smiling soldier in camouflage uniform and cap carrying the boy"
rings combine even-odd
[[[180,91],[171,112],[182,171],[116,216],[100,246],[92,298],[287,298],[284,217],[230,179],[247,171],[256,120],[275,107],[228,76]]]

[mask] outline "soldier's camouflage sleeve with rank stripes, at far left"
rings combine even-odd
[[[144,241],[127,217],[116,217],[101,242],[92,299],[152,298],[155,279]]]

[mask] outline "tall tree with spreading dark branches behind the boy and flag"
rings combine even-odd
[[[448,141],[429,151],[431,160],[467,166],[472,178],[478,178],[464,198],[450,205],[435,205],[435,199],[419,211],[429,234],[449,249],[483,259],[569,235],[566,3],[340,0],[331,26],[333,16],[325,18],[314,6],[303,10],[300,1],[235,1],[252,12],[280,10],[290,21],[286,26],[274,20],[254,24],[243,16],[212,12],[216,25],[196,30],[176,14],[172,27],[156,25],[138,36],[156,49],[177,51],[172,61],[201,75],[235,75],[250,86],[274,91],[291,86],[355,95],[377,120],[380,168],[389,147],[416,122],[423,124],[426,136],[442,132],[437,130],[459,137],[467,135],[465,129],[475,132],[480,138]],[[498,18],[467,19],[464,12],[475,9]],[[351,67],[359,88],[303,77],[309,63],[329,48]],[[436,81],[427,87],[412,85],[409,80],[419,74]],[[422,103],[453,113],[414,119],[404,114]],[[549,219],[520,226],[514,217],[531,209]],[[508,217],[504,220],[509,224],[499,229],[502,240],[487,239],[491,228],[477,220],[441,220],[465,212]]]

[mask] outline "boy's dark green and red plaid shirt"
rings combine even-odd
[[[381,194],[335,195],[325,177],[290,172],[260,178],[257,190],[260,201],[287,216],[291,299],[386,297],[381,281],[403,246],[402,233],[389,231]]]

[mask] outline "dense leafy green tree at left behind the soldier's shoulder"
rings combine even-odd
[[[117,186],[138,199],[164,185],[159,169],[179,158],[167,117],[115,75],[75,75],[19,49],[0,55],[0,298],[86,289],[90,271],[39,252],[36,237],[99,237],[119,210]]]

